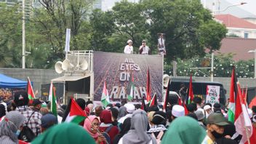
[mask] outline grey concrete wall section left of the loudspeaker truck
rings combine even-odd
[[[41,84],[51,83],[51,79],[63,76],[63,74],[58,74],[55,70],[44,70],[44,69],[32,69],[32,68],[0,68],[0,73],[7,76],[11,76],[15,79],[21,79],[27,81],[27,78],[33,81],[33,90],[39,91],[36,97],[41,96]]]

